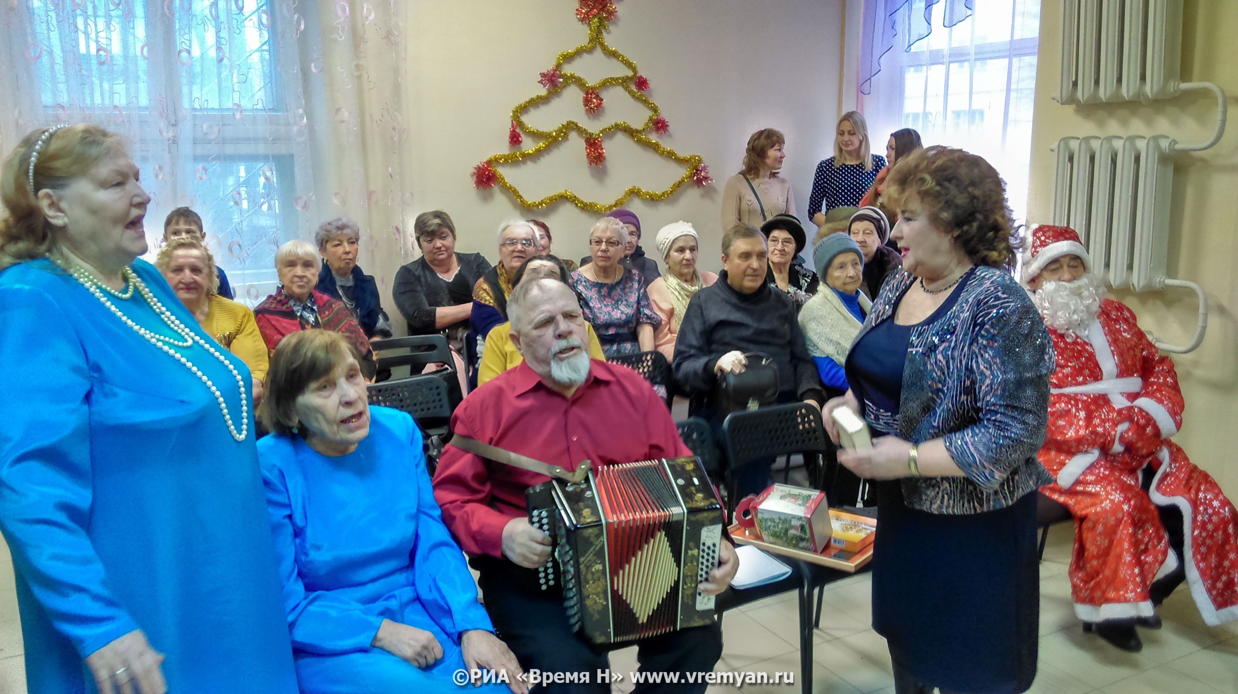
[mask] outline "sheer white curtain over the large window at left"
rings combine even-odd
[[[5,2],[0,145],[56,122],[125,135],[152,195],[151,255],[167,213],[191,207],[254,306],[280,244],[328,219],[360,224],[363,267],[399,247],[401,16],[394,0]]]

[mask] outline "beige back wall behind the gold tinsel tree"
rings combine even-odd
[[[661,141],[681,153],[701,155],[716,179],[704,188],[687,184],[665,202],[638,199],[626,207],[641,219],[646,252],[657,255],[659,228],[682,219],[702,234],[702,267],[716,270],[722,187],[739,169],[753,131],[776,127],[786,135],[784,176],[794,184],[803,215],[813,168],[831,153],[838,113],[842,0],[625,0],[618,6],[605,38],[650,79],[647,95],[671,125]],[[556,255],[576,260],[588,255],[587,233],[599,215],[566,202],[522,209],[499,188],[475,191],[469,178],[474,165],[509,150],[513,106],[543,92],[537,73],[550,68],[560,52],[588,40],[568,0],[409,2],[406,125],[412,156],[404,173],[413,203],[405,208],[405,229],[411,229],[417,213],[444,209],[457,223],[458,250],[482,251],[493,261],[499,221],[539,218],[551,226]],[[578,72],[588,79],[621,71],[595,56],[582,63]],[[641,114],[647,114],[633,108],[618,88],[604,90],[603,98],[598,120],[587,121],[573,87],[526,121],[551,129],[567,119],[600,125],[629,116],[644,120]],[[525,137],[525,147],[532,142]],[[583,144],[573,135],[536,163],[504,171],[529,198],[568,188],[607,200],[631,184],[666,188],[681,173],[677,165],[621,135],[604,144],[604,169],[586,165]],[[375,252],[375,270],[366,271],[390,282],[401,257],[385,251]],[[406,249],[402,260],[415,257]],[[389,297],[390,291],[384,301]]]

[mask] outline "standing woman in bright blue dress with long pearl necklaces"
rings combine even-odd
[[[56,126],[0,176],[0,529],[26,690],[295,693],[250,372],[136,260],[137,167],[100,127]]]

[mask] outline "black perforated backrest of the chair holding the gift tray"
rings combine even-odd
[[[730,468],[775,455],[826,453],[829,439],[816,407],[792,402],[733,412],[722,423],[722,445]]]

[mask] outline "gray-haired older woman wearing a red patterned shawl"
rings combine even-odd
[[[280,340],[300,330],[322,328],[339,333],[357,350],[365,377],[374,380],[378,364],[360,323],[343,302],[314,289],[321,268],[318,249],[308,241],[293,239],[275,251],[280,286],[254,309],[262,341],[274,353]]]

